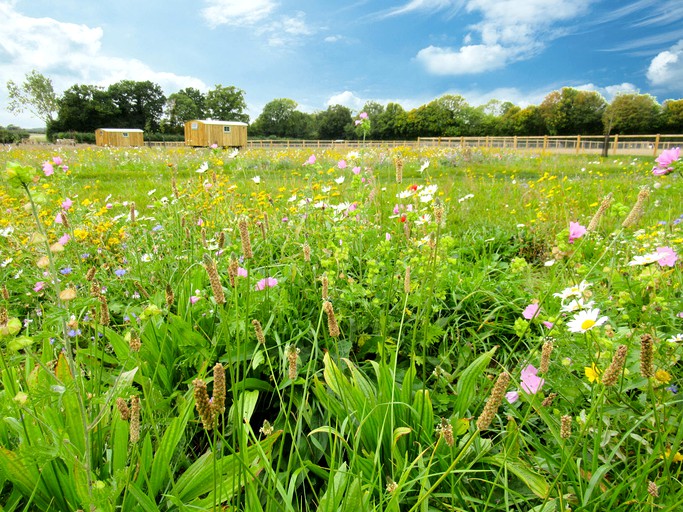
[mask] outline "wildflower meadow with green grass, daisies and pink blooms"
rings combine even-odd
[[[54,151],[0,153],[0,510],[683,506],[651,159]]]

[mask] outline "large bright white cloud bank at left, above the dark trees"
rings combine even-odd
[[[169,94],[184,87],[208,90],[200,79],[158,71],[136,59],[107,55],[102,50],[104,31],[67,23],[53,18],[24,16],[14,9],[13,3],[0,2],[0,103],[6,104],[8,80],[22,83],[31,70],[53,80],[58,92],[76,84],[86,83],[107,86],[119,80],[150,80],[159,84]],[[3,109],[4,110],[4,109]],[[2,112],[7,121],[0,124],[21,122],[39,126],[40,122],[29,117],[12,118]]]

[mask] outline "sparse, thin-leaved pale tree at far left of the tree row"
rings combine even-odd
[[[7,110],[13,114],[21,114],[28,110],[35,117],[49,125],[59,109],[58,96],[55,94],[52,80],[35,69],[28,73],[24,83],[17,85],[7,81],[9,103]]]

